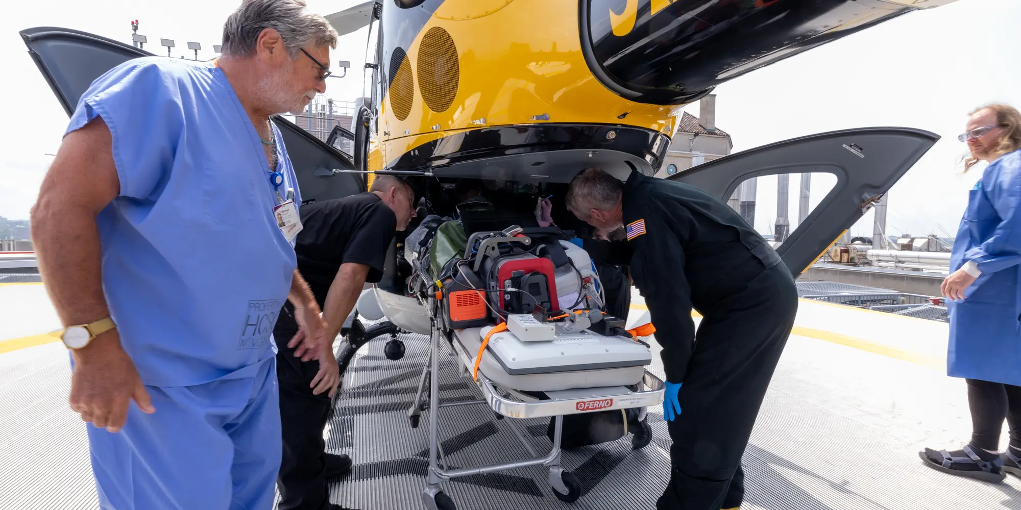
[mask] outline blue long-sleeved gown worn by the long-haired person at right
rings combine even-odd
[[[982,274],[951,316],[947,374],[1021,386],[1021,150],[985,168],[969,192],[951,272],[974,261]]]

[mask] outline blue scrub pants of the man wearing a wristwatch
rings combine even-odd
[[[89,427],[103,510],[270,510],[280,468],[275,358],[192,387],[149,387],[116,434]]]

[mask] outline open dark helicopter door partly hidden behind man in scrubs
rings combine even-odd
[[[92,82],[116,65],[152,53],[70,29],[42,27],[20,32],[36,65],[67,115],[74,113]],[[273,117],[280,129],[305,202],[354,195],[366,190],[363,174],[351,157],[330,147],[293,122]],[[335,171],[340,170],[340,171]]]

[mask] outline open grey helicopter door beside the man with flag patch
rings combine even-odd
[[[796,277],[858,221],[939,137],[910,128],[821,133],[725,156],[667,178],[722,200],[751,177],[830,173],[836,184],[776,251]],[[830,177],[832,178],[832,177]]]

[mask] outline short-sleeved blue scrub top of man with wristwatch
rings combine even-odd
[[[150,386],[254,375],[296,266],[262,144],[222,69],[131,60],[93,82],[67,133],[101,116],[120,194],[97,217],[120,342]],[[276,126],[277,169],[301,203]],[[252,372],[252,373],[249,373]]]

